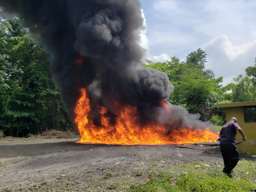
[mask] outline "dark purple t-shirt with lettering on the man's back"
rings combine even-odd
[[[237,137],[237,127],[239,127],[237,123],[226,123],[220,131],[220,144],[235,144]]]

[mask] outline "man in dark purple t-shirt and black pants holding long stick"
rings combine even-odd
[[[237,118],[232,117],[228,123],[226,123],[219,134],[220,137],[220,151],[224,161],[223,173],[232,177],[234,173],[232,170],[237,165],[240,155],[235,146],[235,141],[237,137],[237,131],[242,135],[242,140],[246,141],[243,130],[237,124]]]

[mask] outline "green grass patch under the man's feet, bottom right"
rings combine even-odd
[[[237,177],[229,178],[222,173],[222,167],[196,167],[199,163],[179,166],[173,170],[151,172],[150,181],[145,184],[131,186],[131,192],[248,192],[256,189],[256,163],[240,161],[234,169]],[[248,173],[249,172],[249,173]],[[248,174],[247,174],[248,173]]]

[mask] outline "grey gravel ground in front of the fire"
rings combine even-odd
[[[220,166],[220,171],[223,167],[219,149],[87,145],[75,141],[0,141],[0,191],[127,191],[131,185],[147,182],[154,170],[193,162]],[[247,155],[242,158],[255,161]]]

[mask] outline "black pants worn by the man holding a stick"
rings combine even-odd
[[[224,161],[223,173],[230,174],[233,168],[237,165],[240,155],[234,144],[220,144],[220,151]]]

